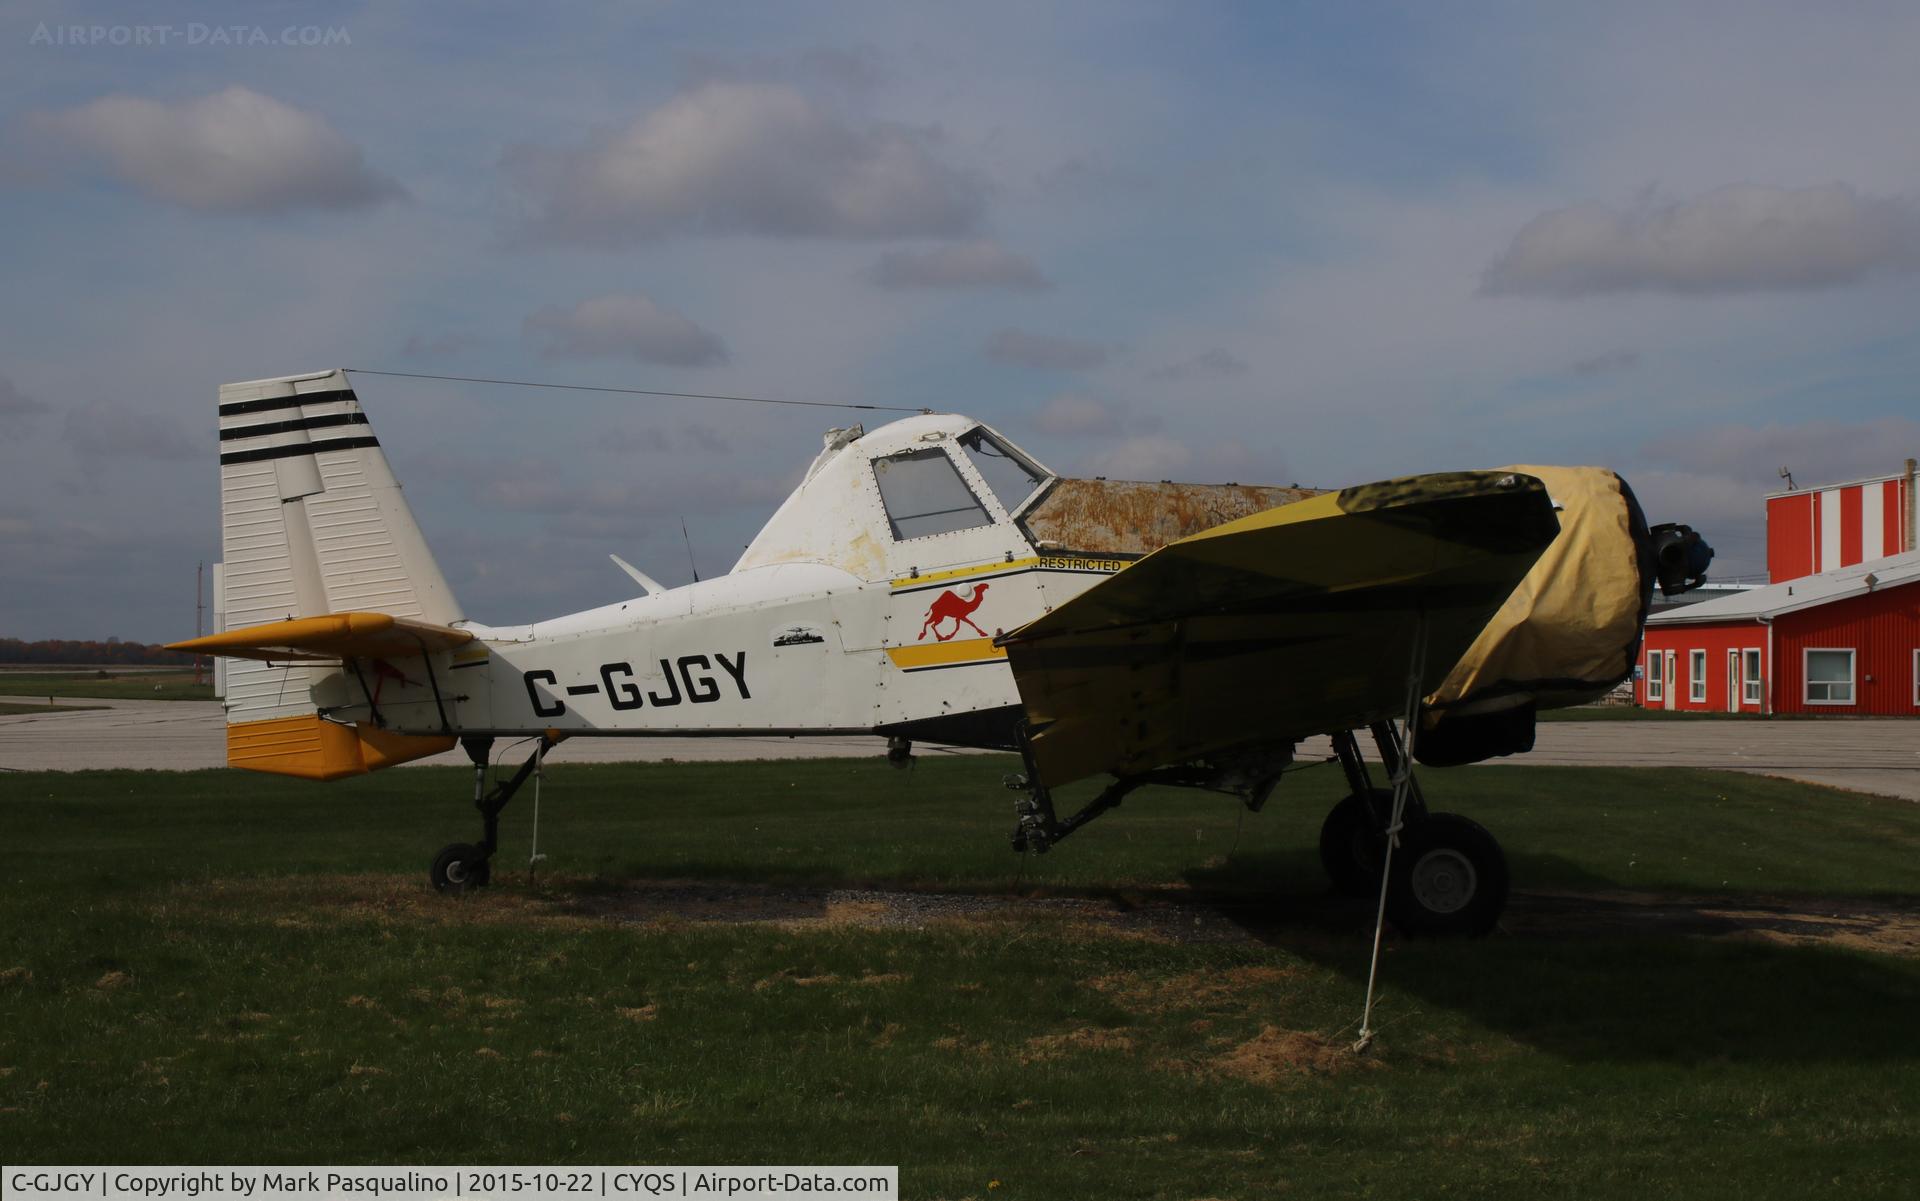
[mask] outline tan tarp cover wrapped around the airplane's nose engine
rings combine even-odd
[[[1432,710],[1584,704],[1634,670],[1647,597],[1624,483],[1592,466],[1501,470],[1548,485],[1561,531],[1427,698]]]

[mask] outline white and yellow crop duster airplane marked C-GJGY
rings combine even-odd
[[[1655,583],[1697,585],[1713,556],[1686,526],[1649,530],[1599,468],[1338,491],[1071,480],[929,412],[829,430],[726,576],[664,589],[622,562],[643,595],[482,625],[348,372],[221,388],[219,449],[223,627],[175,648],[236,660],[227,762],[328,781],[465,746],[484,835],[440,852],[442,890],[488,883],[501,810],[568,737],[1014,750],[1014,846],[1046,850],[1150,783],[1258,810],[1296,742],[1331,733],[1352,789],[1321,833],[1334,884],[1379,890],[1390,860],[1398,927],[1484,932],[1505,904],[1500,846],[1427,812],[1409,752],[1528,750],[1536,710],[1632,671]],[[488,790],[495,739],[534,752]],[[1056,813],[1054,789],[1100,775]]]

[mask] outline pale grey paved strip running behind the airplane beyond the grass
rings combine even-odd
[[[44,698],[0,700],[35,702]],[[227,756],[221,706],[211,700],[69,700],[106,708],[0,716],[0,771],[86,767],[219,767]],[[1365,742],[1365,739],[1363,739]],[[818,760],[885,754],[885,739],[568,739],[553,764]],[[956,754],[916,746],[916,754]],[[958,752],[964,754],[964,752]],[[1302,760],[1331,756],[1327,739],[1300,744]],[[1718,767],[1782,775],[1920,802],[1920,721],[1542,721],[1532,754],[1494,764],[1580,767]],[[420,764],[465,765],[459,750]]]

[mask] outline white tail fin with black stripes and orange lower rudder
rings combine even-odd
[[[344,370],[223,386],[219,447],[225,631],[328,616],[422,629],[461,620]],[[326,700],[346,696],[338,662],[230,658],[228,765],[332,779],[453,744],[326,721]]]

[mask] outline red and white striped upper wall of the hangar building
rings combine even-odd
[[[1766,497],[1770,583],[1899,554],[1912,543],[1905,476]]]

